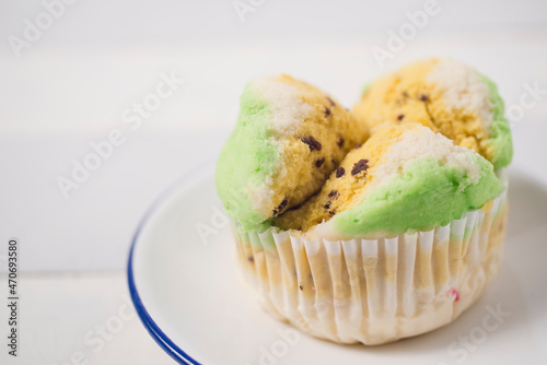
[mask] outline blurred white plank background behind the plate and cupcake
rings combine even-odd
[[[382,73],[450,56],[493,79],[508,107],[520,104],[526,84],[547,90],[542,0],[439,0],[439,14],[382,68],[371,49],[387,48],[388,32],[424,2],[255,0],[242,22],[231,0],[80,0],[16,57],[9,38],[23,38],[25,19],[35,23],[45,8],[1,1],[0,255],[9,237],[20,239],[21,351],[65,364],[85,350],[84,333],[124,305],[139,220],[177,177],[216,158],[255,74],[291,73],[351,106]],[[162,72],[184,85],[131,130],[121,114],[154,92]],[[547,184],[547,94],[512,128],[514,165]],[[57,178],[70,177],[72,161],[82,162],[90,143],[113,129],[126,142],[66,199]],[[91,364],[168,363],[138,320],[126,325],[104,351],[91,352]]]

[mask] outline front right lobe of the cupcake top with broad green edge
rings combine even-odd
[[[310,239],[398,235],[446,224],[501,189],[484,157],[408,122],[377,130],[348,153],[318,195],[275,224]]]

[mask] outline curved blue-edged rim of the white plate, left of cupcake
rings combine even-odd
[[[165,332],[163,332],[156,322],[152,319],[150,314],[148,313],[144,304],[142,303],[139,292],[137,290],[137,285],[135,283],[135,274],[133,274],[133,251],[137,246],[137,242],[139,239],[142,227],[148,223],[153,213],[158,210],[158,208],[171,198],[176,191],[183,189],[191,185],[193,182],[201,179],[206,176],[207,173],[210,173],[214,166],[214,161],[209,161],[203,165],[191,169],[187,174],[185,174],[181,179],[176,180],[173,185],[171,185],[167,189],[165,189],[152,203],[152,205],[147,210],[144,216],[140,221],[137,232],[131,240],[131,247],[129,250],[129,260],[127,263],[127,281],[129,285],[129,294],[131,296],[131,301],[133,303],[135,309],[139,315],[139,318],[144,325],[144,328],[150,333],[152,339],[163,349],[171,357],[173,357],[177,363],[184,365],[201,365],[196,360],[191,358],[186,352],[184,352],[181,348],[178,348],[173,340],[171,340]]]

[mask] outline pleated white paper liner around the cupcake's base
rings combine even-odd
[[[235,226],[245,276],[271,314],[312,335],[381,344],[454,320],[497,273],[505,191],[431,231],[329,242]]]

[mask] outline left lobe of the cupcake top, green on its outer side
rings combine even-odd
[[[219,158],[217,190],[243,228],[263,229],[317,192],[366,138],[366,126],[318,89],[289,75],[255,79]]]

